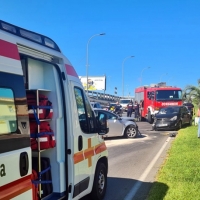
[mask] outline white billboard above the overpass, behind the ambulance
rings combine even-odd
[[[79,76],[79,79],[87,90],[87,77]],[[105,76],[90,76],[88,77],[88,90],[106,90],[106,77]]]

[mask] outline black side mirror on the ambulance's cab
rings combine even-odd
[[[99,111],[98,112],[98,134],[105,135],[109,132],[107,116],[105,113]]]

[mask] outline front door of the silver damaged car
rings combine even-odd
[[[109,132],[108,136],[121,136],[123,130],[122,121],[119,120],[119,117],[114,115],[111,112],[105,112],[108,120]]]

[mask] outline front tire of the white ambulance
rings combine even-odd
[[[107,170],[103,163],[98,163],[95,171],[92,192],[88,195],[91,200],[103,200],[107,187]]]

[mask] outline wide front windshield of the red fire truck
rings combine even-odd
[[[182,98],[181,90],[157,90],[156,100],[157,101],[174,101],[181,100]]]

